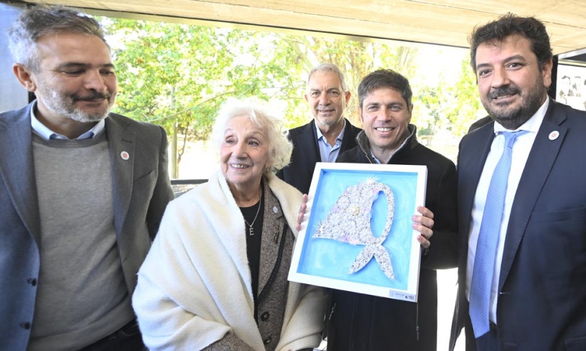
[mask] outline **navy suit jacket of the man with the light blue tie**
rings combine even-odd
[[[491,122],[460,143],[459,289],[450,350],[464,325],[467,344],[474,346],[465,296],[468,235],[493,127]],[[504,241],[497,303],[501,350],[586,350],[585,174],[586,112],[550,100],[519,180]]]

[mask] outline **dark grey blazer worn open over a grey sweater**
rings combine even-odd
[[[0,350],[25,350],[34,320],[41,224],[34,179],[30,109],[0,114]],[[167,135],[119,114],[105,119],[114,197],[114,225],[129,293],[173,199]],[[120,153],[130,159],[124,161]]]

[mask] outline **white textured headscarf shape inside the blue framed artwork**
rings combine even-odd
[[[379,237],[375,237],[370,226],[372,204],[383,192],[386,197],[386,223]],[[395,280],[391,258],[382,243],[389,236],[395,211],[395,197],[388,185],[368,178],[364,183],[347,187],[320,223],[314,238],[332,239],[352,245],[365,245],[350,267],[349,274],[363,269],[372,257],[377,260],[386,277]]]

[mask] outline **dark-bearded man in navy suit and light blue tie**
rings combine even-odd
[[[460,143],[459,289],[450,350],[462,326],[467,350],[586,350],[586,112],[547,96],[552,48],[535,18],[508,14],[474,29],[471,66],[494,121]],[[522,135],[512,144],[493,258],[477,269],[488,251],[478,243],[485,204],[495,197],[487,199],[490,180],[504,133],[512,131]],[[486,310],[469,308],[477,272],[492,278]]]

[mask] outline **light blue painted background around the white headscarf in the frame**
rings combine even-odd
[[[363,183],[367,178],[388,185],[395,197],[395,213],[391,232],[383,246],[391,257],[395,281],[391,281],[380,269],[377,261],[372,260],[360,271],[349,274],[350,267],[360,251],[366,246],[352,245],[332,239],[313,238],[319,223],[323,222],[346,187]],[[318,277],[339,279],[346,282],[358,282],[393,289],[405,290],[408,287],[410,251],[412,242],[411,216],[415,208],[417,192],[417,173],[408,172],[365,172],[353,170],[322,169],[311,216],[306,232],[306,239],[301,251],[297,272]],[[417,204],[419,205],[419,204]],[[386,199],[384,193],[372,205],[372,232],[379,237],[386,222]]]

